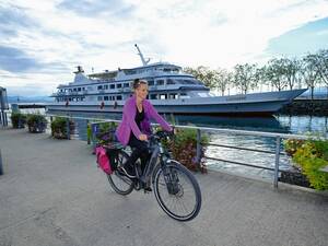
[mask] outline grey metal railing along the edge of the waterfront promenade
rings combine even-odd
[[[92,136],[91,140],[89,139],[87,142],[92,143],[93,145],[96,144],[96,138],[95,134],[97,130],[99,129],[99,125],[102,124],[108,124],[108,122],[120,122],[120,120],[116,119],[104,119],[104,118],[91,118],[91,117],[77,117],[77,116],[71,116],[71,115],[51,115],[47,114],[47,117],[50,118],[50,121],[52,120],[54,117],[65,117],[67,118],[67,132],[68,132],[68,139],[71,138],[70,132],[70,121],[71,120],[84,120],[85,126],[90,126]],[[96,127],[97,126],[97,127]],[[86,127],[85,127],[86,128]],[[285,152],[282,150],[282,140],[284,139],[295,139],[295,140],[308,140],[313,139],[311,136],[301,136],[301,134],[290,134],[290,133],[278,133],[278,132],[262,132],[262,131],[250,131],[250,130],[235,130],[235,129],[223,129],[223,128],[209,128],[209,127],[196,127],[196,126],[181,126],[181,125],[176,125],[174,126],[176,129],[194,129],[197,131],[197,151],[196,151],[196,156],[195,156],[195,162],[200,168],[202,157],[204,160],[212,160],[212,161],[218,161],[222,163],[231,163],[231,164],[236,164],[241,166],[246,166],[246,167],[253,167],[253,168],[259,168],[263,171],[271,171],[273,172],[273,187],[278,188],[278,183],[279,183],[279,174],[282,172],[285,173],[292,173],[292,171],[286,171],[286,169],[281,169],[281,163],[280,163],[280,156],[281,155],[286,155]],[[81,131],[81,129],[80,129]],[[84,129],[86,132],[86,129]],[[234,160],[225,160],[225,159],[219,159],[214,156],[209,156],[204,155],[202,156],[202,145],[201,145],[201,139],[202,134],[207,134],[209,132],[216,132],[216,133],[225,133],[225,134],[241,134],[241,136],[253,136],[253,137],[263,137],[263,138],[271,138],[274,139],[276,142],[276,148],[274,151],[268,151],[268,150],[260,150],[254,149],[254,148],[241,148],[236,145],[227,145],[227,144],[221,144],[218,142],[209,142],[207,143],[208,147],[214,147],[214,148],[226,148],[226,149],[232,149],[232,150],[237,150],[237,151],[251,151],[251,152],[258,152],[258,153],[266,153],[274,156],[273,165],[271,166],[262,166],[262,165],[255,165],[253,163],[244,163],[244,162],[237,162]],[[327,140],[327,137],[323,137],[323,139]]]

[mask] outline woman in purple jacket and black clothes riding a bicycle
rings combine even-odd
[[[133,164],[140,157],[141,167],[144,168],[149,159],[147,139],[151,133],[150,119],[156,120],[164,130],[172,131],[169,125],[159,115],[153,105],[147,99],[148,83],[144,80],[133,81],[134,94],[126,101],[122,120],[117,128],[117,139],[124,145],[133,148],[129,160],[122,171],[129,177],[136,177]]]

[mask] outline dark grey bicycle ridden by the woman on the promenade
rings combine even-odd
[[[152,154],[143,172],[140,162],[133,165],[136,178],[126,176],[119,169],[129,155],[124,147],[116,148],[115,160],[112,160],[116,168],[107,177],[113,189],[124,196],[133,189],[141,190],[152,185],[155,198],[166,214],[177,221],[190,221],[200,211],[201,191],[192,173],[173,160],[163,147],[161,140],[171,136],[168,132],[157,131],[149,138],[149,151]]]

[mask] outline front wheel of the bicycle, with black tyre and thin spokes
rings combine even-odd
[[[165,171],[156,171],[154,194],[164,212],[175,220],[190,221],[200,211],[199,185],[191,172],[176,161],[171,161]]]

